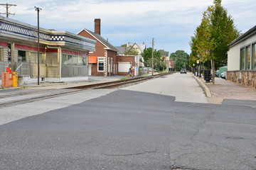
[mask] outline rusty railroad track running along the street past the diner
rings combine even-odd
[[[168,74],[171,74],[171,73],[168,73]],[[110,82],[105,82],[105,83],[100,83],[100,84],[90,84],[90,85],[85,85],[85,86],[73,86],[73,87],[65,88],[65,90],[63,90],[63,89],[59,89],[59,90],[48,89],[48,90],[40,90],[40,91],[27,91],[27,92],[11,94],[11,95],[3,95],[3,96],[0,96],[0,98],[11,98],[11,97],[16,97],[16,96],[26,96],[26,95],[28,95],[28,97],[24,97],[22,99],[11,99],[10,101],[0,102],[0,108],[6,108],[9,106],[15,106],[18,104],[29,103],[29,102],[33,102],[33,101],[40,101],[40,100],[44,100],[47,98],[55,98],[58,96],[64,96],[64,95],[68,95],[68,94],[75,94],[75,93],[78,93],[80,91],[84,91],[87,89],[113,89],[113,88],[117,88],[119,86],[124,86],[127,84],[136,84],[140,81],[146,81],[149,79],[154,79],[155,77],[162,77],[165,75],[167,75],[167,74],[157,74],[157,75],[148,76],[148,77],[135,77],[135,78],[131,78],[131,79],[110,81]],[[46,92],[50,92],[50,94],[43,94]],[[29,95],[31,95],[31,94],[39,94],[39,95],[30,97]]]

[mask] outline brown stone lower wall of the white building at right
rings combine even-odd
[[[256,70],[255,71],[228,71],[227,80],[242,84],[243,86],[256,89]]]

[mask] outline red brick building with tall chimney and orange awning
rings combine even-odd
[[[112,76],[117,74],[117,49],[100,36],[100,18],[95,19],[95,32],[82,29],[78,33],[85,38],[96,40],[95,52],[89,52],[88,75]]]

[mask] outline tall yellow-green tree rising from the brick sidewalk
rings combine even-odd
[[[221,0],[214,0],[213,3],[214,6],[208,6],[203,13],[201,25],[196,28],[195,36],[191,38],[191,63],[196,60],[203,63],[210,61],[212,73],[215,68],[227,64],[228,45],[239,36],[233,19],[221,6]]]

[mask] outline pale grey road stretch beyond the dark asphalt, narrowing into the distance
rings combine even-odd
[[[175,73],[142,84],[128,86],[125,90],[175,96],[175,101],[207,103],[203,89],[191,74]]]

